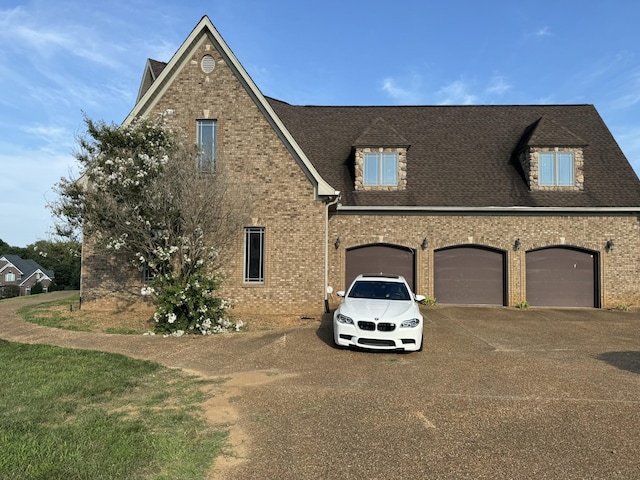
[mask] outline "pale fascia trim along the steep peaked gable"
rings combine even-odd
[[[191,44],[198,38],[198,36],[202,35],[203,32],[207,31],[213,37],[214,42],[220,47],[226,59],[231,63],[231,68],[234,69],[237,74],[240,76],[241,81],[244,83],[245,87],[249,90],[250,94],[253,96],[255,101],[258,103],[258,107],[262,109],[262,111],[267,116],[267,119],[271,121],[272,125],[275,127],[277,132],[280,135],[280,138],[290,146],[291,152],[298,157],[300,162],[302,163],[303,169],[306,171],[307,175],[311,177],[313,183],[316,186],[316,194],[319,196],[333,196],[336,194],[336,190],[331,187],[318,173],[316,168],[313,166],[311,161],[307,158],[305,153],[298,145],[298,142],[295,141],[291,133],[287,130],[287,128],[282,123],[282,120],[276,115],[269,102],[267,102],[266,98],[255,84],[255,82],[251,79],[247,71],[244,69],[242,64],[238,61],[234,53],[231,51],[227,43],[224,41],[218,30],[213,26],[209,17],[204,16],[202,20],[198,23],[198,25],[193,29],[191,34],[187,37],[184,43],[180,46],[178,51],[171,57],[171,60],[164,68],[162,73],[158,76],[158,78],[153,82],[153,85],[147,90],[144,96],[140,99],[140,101],[135,105],[131,113],[127,116],[124,124],[128,124],[134,118],[140,115],[140,112],[145,110],[150,110],[153,108],[155,101],[147,104],[150,98],[153,95],[156,95],[156,99],[162,97],[163,90],[166,90],[168,86],[171,84],[170,75],[175,76],[175,74],[180,70],[176,68],[177,62],[184,56],[187,50],[191,47]],[[204,39],[203,39],[204,41]],[[199,45],[199,44],[198,44]],[[196,46],[197,48],[197,46]],[[189,61],[189,59],[185,58],[184,62]],[[156,90],[159,90],[156,92]],[[156,100],[157,101],[157,100]]]

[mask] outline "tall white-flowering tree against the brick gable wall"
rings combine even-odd
[[[231,326],[214,296],[229,247],[251,209],[241,179],[218,161],[199,171],[199,152],[163,119],[116,126],[85,118],[75,158],[80,178],[62,178],[50,205],[59,235],[85,238],[154,277],[156,329],[211,333]]]

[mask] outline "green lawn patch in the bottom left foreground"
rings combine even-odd
[[[0,340],[0,478],[203,479],[226,445],[209,382],[122,355]]]

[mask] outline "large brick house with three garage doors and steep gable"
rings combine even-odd
[[[592,105],[294,106],[204,17],[125,123],[160,114],[254,187],[238,313],[315,314],[361,272],[441,304],[640,303],[640,182]],[[122,263],[85,244],[85,305],[138,294]]]

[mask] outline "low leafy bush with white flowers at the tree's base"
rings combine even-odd
[[[180,336],[240,330],[242,321],[234,322],[229,315],[231,302],[214,295],[217,287],[217,279],[200,274],[191,275],[186,282],[170,274],[156,277],[141,290],[142,295],[154,298],[155,332]]]

